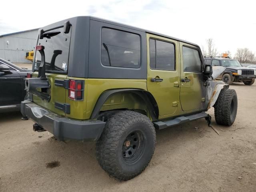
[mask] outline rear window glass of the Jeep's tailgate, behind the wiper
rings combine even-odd
[[[67,73],[71,29],[72,27],[70,26],[68,34],[64,33],[63,27],[50,30],[50,33],[56,32],[56,35],[50,36],[50,38],[38,38],[37,45],[44,46],[46,71],[56,73]],[[56,59],[54,60],[55,56]],[[51,61],[53,62],[52,68],[50,67]],[[39,51],[36,51],[34,69],[38,70],[40,64],[41,54],[39,53]]]

